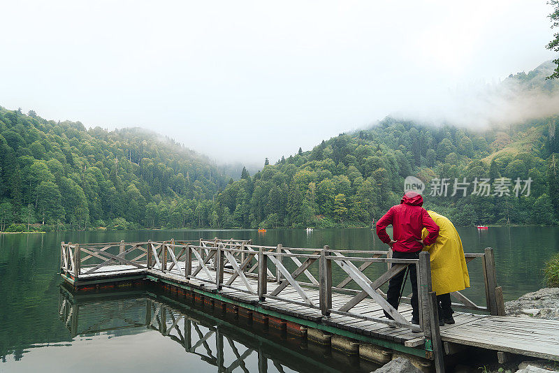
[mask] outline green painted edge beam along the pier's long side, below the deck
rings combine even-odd
[[[414,347],[407,347],[407,346],[404,346],[403,344],[399,344],[397,342],[390,342],[390,341],[386,341],[384,339],[377,339],[377,338],[369,337],[367,335],[360,335],[360,334],[357,334],[357,333],[354,333],[354,332],[350,332],[348,330],[338,329],[338,328],[335,328],[333,326],[326,326],[326,325],[323,325],[321,323],[315,323],[314,321],[299,319],[297,317],[282,314],[280,312],[275,312],[275,311],[270,310],[270,309],[263,309],[261,307],[255,306],[255,305],[249,305],[247,303],[238,302],[237,300],[233,300],[231,298],[228,298],[225,295],[219,295],[219,294],[211,293],[210,291],[204,291],[201,288],[198,288],[196,286],[189,286],[187,284],[180,284],[180,283],[175,282],[175,281],[170,281],[168,279],[162,279],[160,277],[154,277],[152,275],[146,275],[146,278],[149,279],[150,281],[163,282],[164,284],[168,284],[168,285],[171,285],[171,286],[177,286],[177,287],[182,288],[184,290],[188,290],[188,291],[192,291],[194,293],[204,295],[205,297],[208,297],[208,298],[213,298],[213,299],[216,299],[216,300],[220,300],[222,302],[230,303],[231,305],[235,305],[235,306],[238,306],[238,307],[244,307],[244,308],[250,309],[254,312],[260,312],[261,314],[266,314],[268,316],[276,317],[277,319],[284,319],[286,321],[291,321],[293,323],[298,323],[300,325],[307,326],[307,327],[310,327],[310,328],[323,330],[323,331],[329,332],[331,334],[341,335],[342,337],[356,339],[358,341],[366,342],[368,344],[375,344],[376,346],[385,347],[386,349],[391,349],[393,351],[400,351],[402,353],[407,353],[409,355],[419,356],[420,358],[427,358],[428,359],[428,353],[427,353],[428,350],[426,350],[426,349],[417,349],[417,348],[414,348]]]

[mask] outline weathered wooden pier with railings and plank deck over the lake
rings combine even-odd
[[[515,353],[559,361],[559,321],[504,316],[493,250],[466,254],[466,261],[483,268],[486,305],[452,293],[457,300],[453,308],[466,312],[456,312],[456,323],[443,327],[437,322],[427,252],[412,260],[389,258],[387,251],[268,247],[217,238],[62,242],[60,267],[61,276],[78,289],[133,281],[172,286],[242,307],[266,320],[303,326],[310,337],[350,353],[365,356],[374,346],[421,358],[437,372],[444,372],[445,356],[464,346],[497,351],[500,358]],[[418,266],[419,326],[410,323],[409,303],[396,310],[380,289],[411,264]],[[371,278],[372,268],[381,275]],[[333,284],[333,270],[345,278]],[[384,317],[385,311],[393,320]]]

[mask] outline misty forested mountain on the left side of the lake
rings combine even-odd
[[[0,231],[13,223],[151,227],[159,216],[175,226],[198,224],[194,213],[202,216],[229,179],[156,133],[87,131],[80,122],[0,108]]]

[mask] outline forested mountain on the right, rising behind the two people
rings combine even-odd
[[[559,82],[545,80],[550,71],[551,61],[535,71],[511,75],[498,88],[518,102],[532,98],[557,102]],[[558,106],[552,109],[559,113]],[[556,224],[556,134],[556,115],[484,131],[389,117],[228,185],[217,197],[221,224],[252,228],[367,225],[399,203],[408,175],[427,184],[425,207],[447,215],[457,225]],[[445,179],[447,193],[439,188],[430,196],[430,184],[437,180],[444,184]],[[515,190],[517,179],[521,188]],[[466,196],[462,191],[452,196],[455,180],[470,183],[463,184]],[[488,184],[488,196],[485,191],[479,193],[476,180]],[[510,183],[508,192],[503,183]],[[529,195],[526,184],[530,184]],[[478,189],[475,195],[474,187]]]

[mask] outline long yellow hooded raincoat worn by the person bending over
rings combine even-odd
[[[434,244],[426,246],[431,258],[431,281],[437,295],[464,290],[470,287],[466,260],[460,236],[449,219],[433,211],[427,211],[435,224],[439,226],[439,237]],[[421,237],[428,231],[423,228]]]

